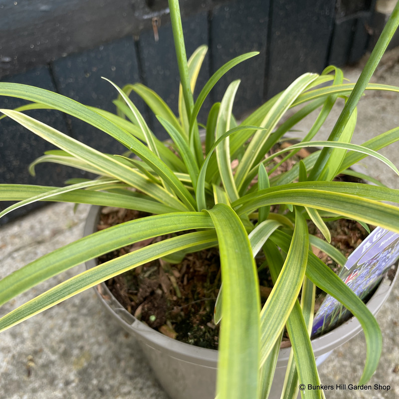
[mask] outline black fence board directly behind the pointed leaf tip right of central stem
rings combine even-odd
[[[227,86],[240,79],[233,112],[242,116],[262,103],[264,93],[269,0],[236,0],[216,7],[210,19],[212,73],[230,59],[250,51],[260,54],[235,66],[212,91],[221,101]]]

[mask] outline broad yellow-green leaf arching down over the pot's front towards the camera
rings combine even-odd
[[[251,246],[229,206],[216,204],[208,212],[219,242],[223,281],[216,392],[219,399],[256,398],[260,299]]]

